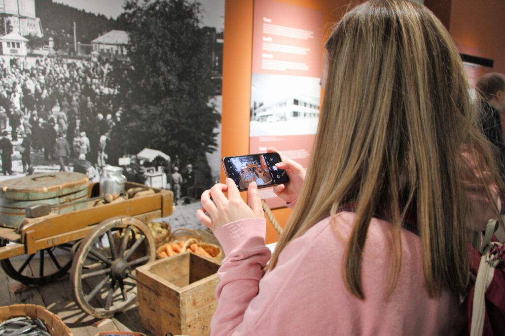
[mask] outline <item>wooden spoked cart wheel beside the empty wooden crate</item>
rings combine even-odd
[[[98,224],[81,242],[72,263],[77,304],[98,318],[126,310],[137,298],[135,268],[155,257],[153,235],[142,221],[115,217]]]

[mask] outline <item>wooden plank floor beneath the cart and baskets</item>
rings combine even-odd
[[[200,233],[206,241],[217,243],[211,233],[201,231]],[[21,261],[11,260],[19,267],[17,264]],[[48,258],[44,260],[44,263],[51,263]],[[75,304],[68,274],[46,285],[26,286],[11,279],[0,268],[0,283],[4,284],[0,287],[0,306],[17,303],[43,306],[57,314],[72,329],[75,336],[94,336],[100,331],[137,331],[153,336],[141,327],[136,305],[110,319],[99,320],[84,313]]]

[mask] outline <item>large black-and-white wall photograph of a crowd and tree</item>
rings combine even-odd
[[[224,0],[1,0],[0,180],[119,166],[194,217],[220,175],[223,32]]]

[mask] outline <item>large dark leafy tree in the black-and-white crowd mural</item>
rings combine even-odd
[[[124,115],[112,146],[178,155],[181,165],[216,150],[219,125],[200,5],[186,0],[129,0],[118,18],[129,34],[127,75],[119,76]]]

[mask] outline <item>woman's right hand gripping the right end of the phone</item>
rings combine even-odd
[[[291,203],[298,198],[301,186],[304,184],[306,171],[298,162],[286,159],[282,153],[275,148],[269,147],[268,153],[278,153],[282,162],[276,164],[277,168],[285,169],[289,176],[289,182],[286,184],[278,184],[274,187],[274,193],[284,199],[286,203]]]

